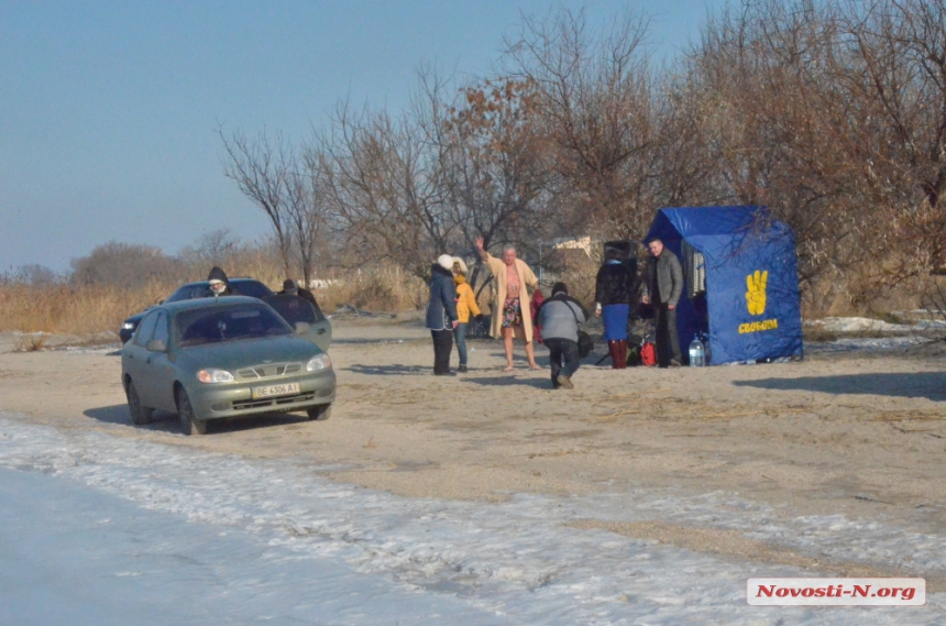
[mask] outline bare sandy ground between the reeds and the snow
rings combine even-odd
[[[471,342],[469,374],[433,377],[429,334],[417,321],[337,320],[334,336],[339,392],[328,421],[243,419],[189,438],[170,414],[134,427],[117,347],[14,352],[12,334],[0,336],[0,410],[61,431],[294,459],[328,468],[339,483],[414,498],[496,503],[657,488],[732,495],[772,507],[785,523],[837,515],[946,534],[942,342],[812,350],[787,364],[625,371],[593,365],[598,343],[576,388],[552,391],[548,370],[528,371],[521,349],[519,367],[504,373],[498,341]],[[538,349],[546,366],[547,354]],[[924,575],[930,592],[946,590],[946,571],[829,558],[712,519],[590,514],[572,524],[815,575]]]

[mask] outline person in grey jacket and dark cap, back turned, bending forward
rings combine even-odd
[[[549,349],[552,388],[573,389],[572,376],[581,365],[579,326],[587,320],[587,312],[580,301],[569,296],[564,283],[556,283],[552,297],[542,303],[536,318],[542,327],[542,340]]]

